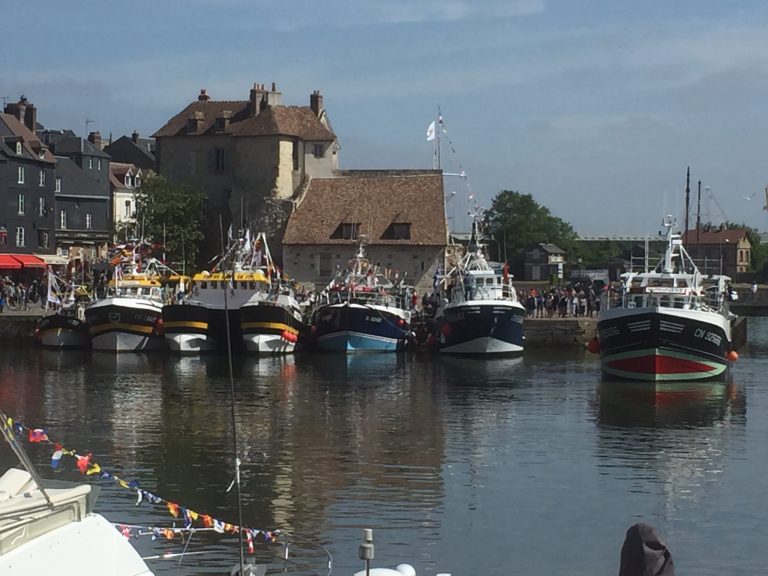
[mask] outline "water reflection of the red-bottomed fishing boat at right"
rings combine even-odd
[[[647,383],[603,380],[597,392],[598,468],[626,483],[629,503],[659,497],[663,521],[706,498],[724,473],[743,391],[730,380]],[[642,498],[640,499],[642,501]]]

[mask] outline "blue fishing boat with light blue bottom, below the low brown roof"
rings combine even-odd
[[[395,352],[411,338],[409,291],[368,261],[362,239],[313,310],[310,330],[319,350]]]

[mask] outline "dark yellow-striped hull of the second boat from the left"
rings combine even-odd
[[[166,349],[162,305],[134,298],[107,298],[85,309],[91,347],[106,352]]]

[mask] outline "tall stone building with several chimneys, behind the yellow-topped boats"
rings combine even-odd
[[[254,84],[247,100],[212,100],[201,90],[153,136],[159,173],[207,195],[201,261],[218,252],[218,214],[225,229],[263,230],[279,246],[303,187],[338,169],[323,96],[315,91],[309,106],[286,106],[274,83]]]

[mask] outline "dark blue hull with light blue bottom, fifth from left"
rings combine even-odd
[[[356,303],[329,304],[315,315],[318,350],[396,352],[410,336],[410,323],[399,308]]]

